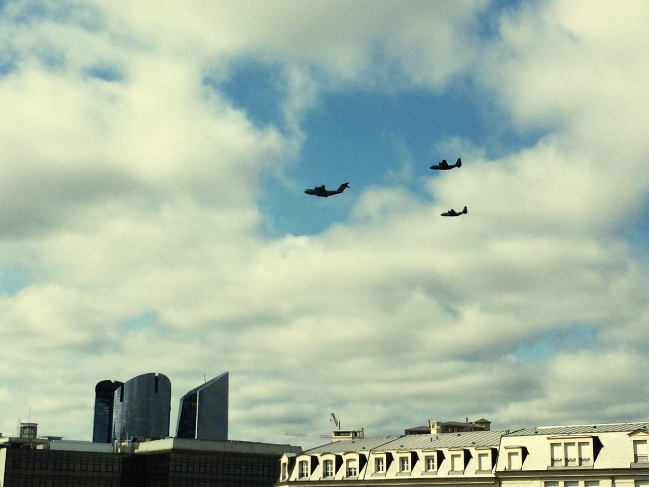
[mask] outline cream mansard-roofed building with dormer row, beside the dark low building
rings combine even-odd
[[[505,431],[413,434],[333,442],[282,456],[278,485],[444,484],[495,486]]]

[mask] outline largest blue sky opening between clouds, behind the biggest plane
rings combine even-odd
[[[405,184],[413,194],[430,200],[422,183],[437,176],[429,169],[432,164],[458,157],[471,164],[465,155],[435,149],[443,142],[471,140],[485,148],[487,158],[538,142],[543,132],[513,130],[488,95],[469,80],[452,84],[444,94],[423,88],[322,94],[304,117],[307,138],[299,161],[287,171],[296,187],[286,188],[270,175],[262,211],[275,216],[273,225],[279,234],[315,234],[345,220],[356,197],[369,186]],[[395,174],[401,179],[395,179]],[[323,201],[305,200],[309,197],[302,193],[321,184],[335,189],[343,182],[349,182],[350,190]]]

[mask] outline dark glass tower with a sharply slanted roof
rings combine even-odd
[[[228,381],[229,373],[222,373],[180,398],[177,438],[228,439]]]

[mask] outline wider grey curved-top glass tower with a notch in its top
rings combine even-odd
[[[111,440],[167,438],[170,414],[169,378],[153,372],[138,375],[115,390]]]

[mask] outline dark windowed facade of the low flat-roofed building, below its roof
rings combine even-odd
[[[284,445],[276,445],[282,447]],[[3,487],[272,487],[280,453],[7,448]]]

